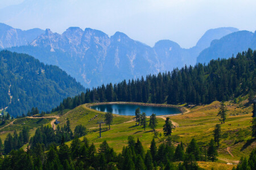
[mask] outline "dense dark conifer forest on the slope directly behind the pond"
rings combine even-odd
[[[143,103],[207,104],[255,94],[256,50],[238,53],[229,59],[217,59],[208,65],[184,66],[168,73],[147,75],[117,84],[102,84],[81,95],[68,97],[53,112],[72,109],[84,103],[135,101]]]

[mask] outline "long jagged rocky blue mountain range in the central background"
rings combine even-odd
[[[211,29],[196,46],[183,49],[170,40],[160,40],[150,47],[122,32],[109,37],[91,28],[70,27],[62,34],[46,29],[29,45],[8,50],[27,53],[44,63],[57,65],[85,87],[97,87],[102,83],[117,83],[194,65],[196,57],[210,41],[237,30],[230,27]]]

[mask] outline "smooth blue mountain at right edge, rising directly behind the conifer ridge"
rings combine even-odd
[[[238,31],[213,40],[209,48],[204,49],[197,57],[197,62],[208,63],[212,59],[229,58],[233,54],[247,50],[256,49],[256,31]]]

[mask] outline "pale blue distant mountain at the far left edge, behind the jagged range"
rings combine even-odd
[[[39,28],[23,31],[0,23],[0,48],[27,45],[42,33],[44,31]]]

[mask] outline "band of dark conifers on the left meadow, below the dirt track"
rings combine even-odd
[[[82,137],[86,135],[86,128],[82,125],[77,125],[74,132],[70,128],[70,122],[67,120],[66,124],[60,128],[58,125],[56,130],[53,130],[50,126],[41,126],[36,129],[35,135],[30,138],[29,129],[24,126],[23,130],[17,134],[14,130],[14,134],[7,134],[7,137],[2,144],[0,138],[0,153],[7,155],[11,150],[18,150],[23,145],[28,144],[29,148],[35,148],[38,143],[43,147],[48,148],[52,143],[60,145],[61,141],[71,141],[75,137]],[[28,149],[28,148],[27,148]]]

